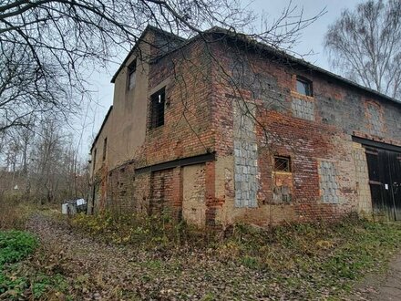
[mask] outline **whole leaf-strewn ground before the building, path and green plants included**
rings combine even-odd
[[[401,246],[401,224],[356,217],[211,233],[168,216],[34,216],[43,245],[0,232],[0,299],[338,300]]]

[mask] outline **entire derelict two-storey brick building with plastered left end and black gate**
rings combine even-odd
[[[221,28],[148,26],[112,82],[91,212],[223,227],[401,213],[396,99]]]

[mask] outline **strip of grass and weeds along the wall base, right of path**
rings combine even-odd
[[[241,273],[245,269],[244,281],[247,276],[252,281],[255,273],[261,275],[265,281],[262,296],[298,299],[338,299],[349,294],[366,274],[385,269],[401,246],[400,224],[356,217],[339,223],[286,224],[269,231],[237,224],[214,235],[162,218],[114,218],[107,213],[78,215],[72,225],[108,243],[154,251],[153,259],[143,264],[149,279],[157,279],[160,273],[176,273],[177,266],[184,273],[188,257],[206,256],[207,265],[240,269]],[[175,259],[162,260],[160,251]],[[205,269],[204,273],[212,279],[206,275],[210,271]]]

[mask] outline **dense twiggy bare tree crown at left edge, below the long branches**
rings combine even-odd
[[[28,47],[3,41],[0,54],[0,131],[74,109],[72,90],[56,65],[44,57],[39,66]]]

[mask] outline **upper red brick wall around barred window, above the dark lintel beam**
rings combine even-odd
[[[148,126],[145,143],[135,156],[138,167],[213,150],[211,62],[206,52],[196,42],[151,64],[149,96],[166,88],[165,121],[156,129]],[[149,104],[148,100],[150,113]]]

